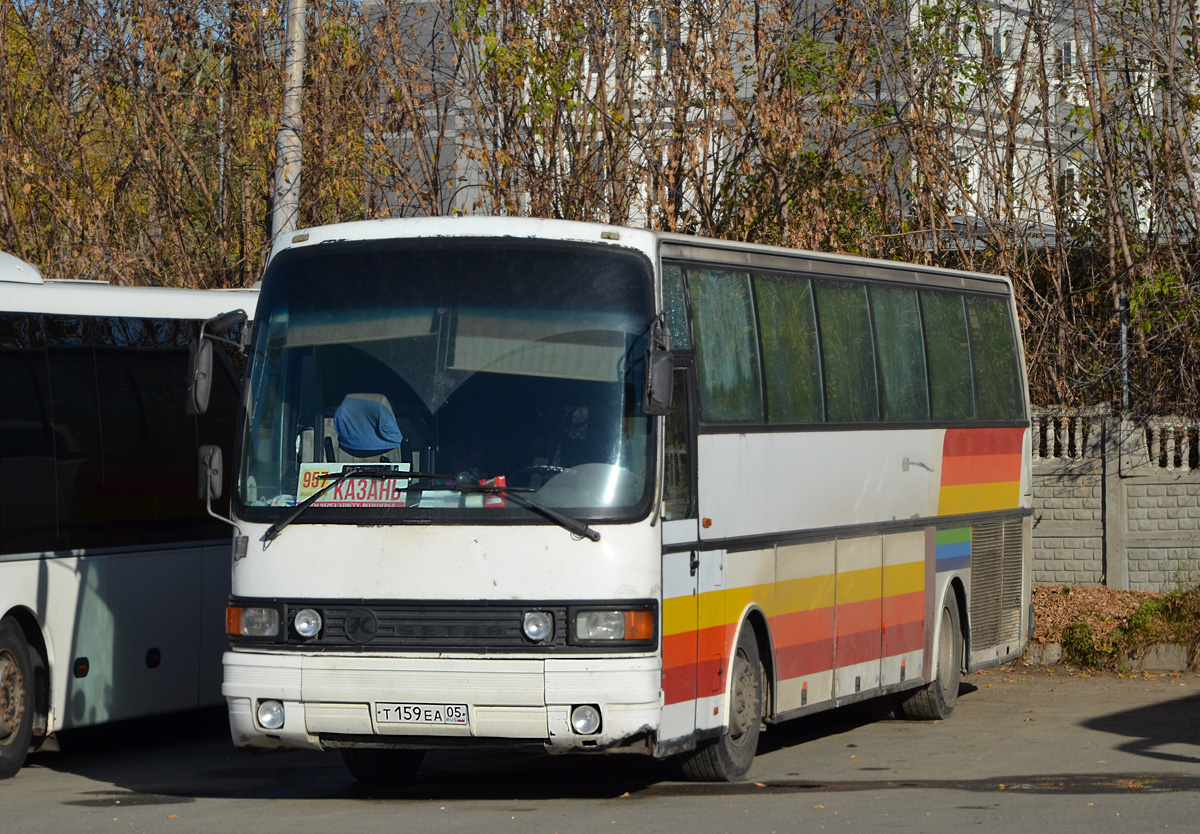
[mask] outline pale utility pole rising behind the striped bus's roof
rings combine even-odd
[[[295,232],[300,217],[300,97],[304,92],[305,0],[288,0],[283,38],[283,113],[275,142],[271,238]]]

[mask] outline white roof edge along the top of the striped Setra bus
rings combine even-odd
[[[389,240],[397,238],[530,238],[624,246],[648,258],[700,260],[756,269],[798,270],[834,276],[899,281],[1010,293],[1012,283],[998,275],[880,260],[853,254],[790,250],[714,238],[649,232],[605,223],[535,217],[389,217],[298,229],[281,235],[271,247],[270,263],[286,250],[322,244]]]

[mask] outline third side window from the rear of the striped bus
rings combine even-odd
[[[878,343],[884,420],[928,420],[925,343],[917,290],[872,287],[871,311]]]

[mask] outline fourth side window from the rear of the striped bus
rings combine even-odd
[[[817,281],[816,296],[827,419],[830,422],[878,420],[866,286]]]

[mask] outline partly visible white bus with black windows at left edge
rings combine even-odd
[[[222,703],[230,532],[196,466],[240,378],[218,360],[197,418],[184,373],[200,322],[256,299],[0,254],[0,776],[60,730]]]

